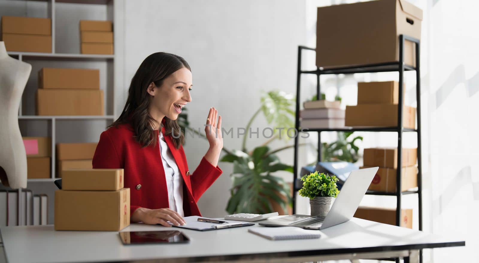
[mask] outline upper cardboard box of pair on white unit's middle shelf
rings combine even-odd
[[[41,89],[100,89],[100,70],[42,68],[38,71]]]

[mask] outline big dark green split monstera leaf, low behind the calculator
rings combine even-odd
[[[273,211],[271,201],[277,202],[284,210],[291,202],[289,187],[272,173],[279,170],[293,172],[293,167],[282,164],[276,155],[268,152],[267,146],[256,147],[251,155],[234,150],[221,159],[233,163],[228,213],[270,213]]]

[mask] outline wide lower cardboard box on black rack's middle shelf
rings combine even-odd
[[[346,106],[346,126],[398,126],[398,105],[394,104],[361,104]],[[416,108],[404,106],[402,126],[416,127]]]

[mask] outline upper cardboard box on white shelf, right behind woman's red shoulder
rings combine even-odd
[[[98,143],[57,143],[57,160],[92,159]]]

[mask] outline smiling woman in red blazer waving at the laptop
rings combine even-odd
[[[221,175],[221,116],[210,108],[205,133],[209,148],[190,174],[176,119],[192,101],[191,68],[170,53],[149,55],[131,80],[120,117],[100,136],[93,168],[123,168],[130,188],[132,222],[171,226],[182,216],[201,216],[197,200]],[[211,127],[211,129],[210,129]]]

